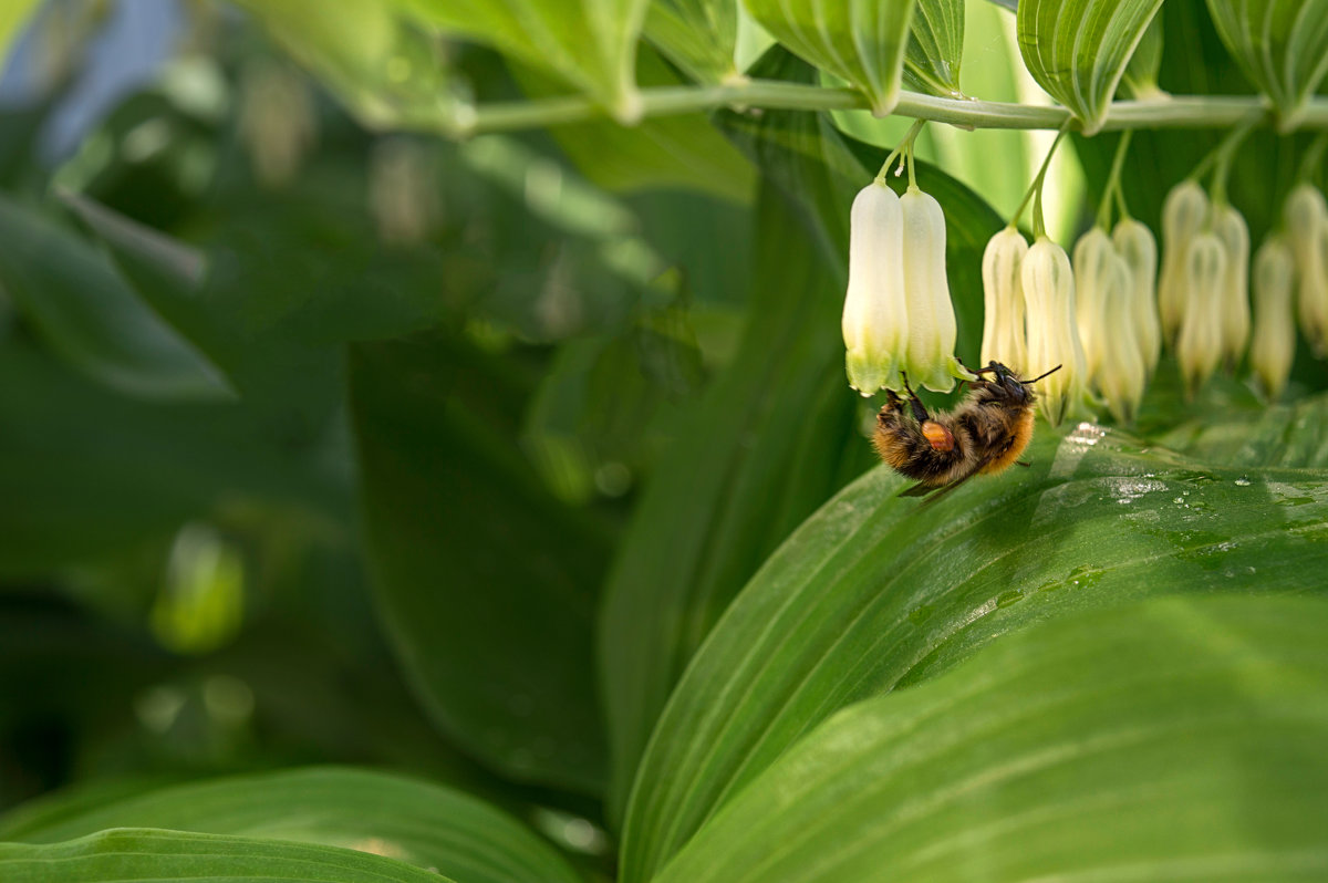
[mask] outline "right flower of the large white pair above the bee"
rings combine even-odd
[[[955,307],[946,280],[946,215],[932,197],[910,186],[903,210],[904,293],[908,319],[904,369],[908,382],[939,393],[971,376],[955,359]]]

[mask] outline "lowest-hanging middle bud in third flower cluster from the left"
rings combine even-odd
[[[1077,274],[1076,274],[1077,275]],[[1098,312],[1096,335],[1101,362],[1092,373],[1093,385],[1106,400],[1112,416],[1129,424],[1139,410],[1147,370],[1137,339],[1133,279],[1125,259],[1108,252],[1097,279]],[[1082,309],[1080,316],[1084,316]]]

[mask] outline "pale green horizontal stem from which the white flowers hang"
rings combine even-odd
[[[659,86],[641,90],[644,117],[700,113],[717,108],[782,110],[866,110],[867,100],[854,89],[811,86],[776,80],[750,80],[717,86]],[[965,129],[1061,129],[1073,120],[1064,108],[939,98],[903,92],[896,116],[948,122]],[[1121,129],[1222,129],[1251,117],[1275,123],[1258,96],[1173,96],[1149,101],[1116,101],[1102,125]],[[485,104],[438,129],[461,134],[515,131],[607,118],[590,98],[563,96],[535,101]],[[1328,98],[1315,97],[1299,118],[1301,129],[1328,129]],[[1077,125],[1077,123],[1073,123]]]

